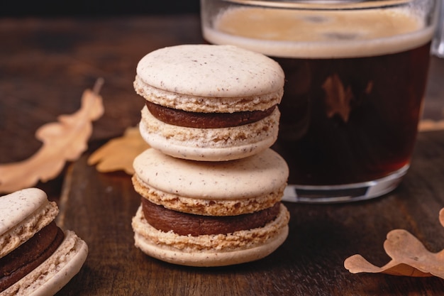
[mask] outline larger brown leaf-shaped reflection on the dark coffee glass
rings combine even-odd
[[[338,75],[334,74],[326,79],[322,88],[326,92],[328,118],[338,114],[344,122],[347,122],[350,115],[350,101],[353,99],[350,87],[345,89]]]

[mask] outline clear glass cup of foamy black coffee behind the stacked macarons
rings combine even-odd
[[[440,0],[438,0],[440,1]],[[394,190],[409,169],[437,18],[434,0],[201,0],[211,44],[284,69],[284,200],[350,202]]]

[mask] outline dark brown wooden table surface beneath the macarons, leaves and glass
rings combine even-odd
[[[89,150],[62,174],[39,183],[60,206],[57,223],[89,245],[84,267],[58,295],[444,295],[440,278],[353,275],[343,261],[360,253],[389,261],[382,243],[406,229],[431,251],[444,248],[444,131],[421,132],[411,170],[386,196],[352,204],[291,204],[290,234],[267,258],[223,268],[189,268],[145,256],[133,246],[140,203],[130,176],[99,173],[87,158],[140,119],[133,91],[140,57],[167,45],[200,43],[199,16],[0,19],[0,163],[28,158],[34,132],[77,111],[85,88],[104,77],[105,114]],[[432,59],[425,116],[444,106],[444,60]]]

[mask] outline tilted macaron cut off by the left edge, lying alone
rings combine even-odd
[[[87,243],[55,224],[59,210],[42,190],[0,197],[0,295],[54,295],[87,258]]]

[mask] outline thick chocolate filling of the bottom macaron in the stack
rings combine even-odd
[[[174,231],[186,236],[204,234],[231,234],[265,226],[279,214],[279,202],[262,211],[238,216],[201,216],[166,209],[142,198],[143,215],[148,223],[161,231]]]

